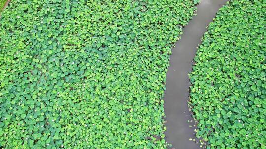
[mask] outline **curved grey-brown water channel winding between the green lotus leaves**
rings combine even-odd
[[[197,15],[183,28],[182,38],[175,43],[167,72],[164,108],[166,118],[166,141],[174,149],[200,149],[195,138],[194,122],[188,110],[189,79],[198,44],[216,12],[228,0],[200,0]],[[192,125],[190,128],[189,126]],[[196,139],[195,142],[189,139]]]

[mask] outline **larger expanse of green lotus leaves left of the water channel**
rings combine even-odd
[[[170,49],[198,0],[12,0],[0,148],[163,149]]]

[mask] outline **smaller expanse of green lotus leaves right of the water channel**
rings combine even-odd
[[[266,1],[231,0],[190,74],[197,136],[211,149],[266,149]]]

